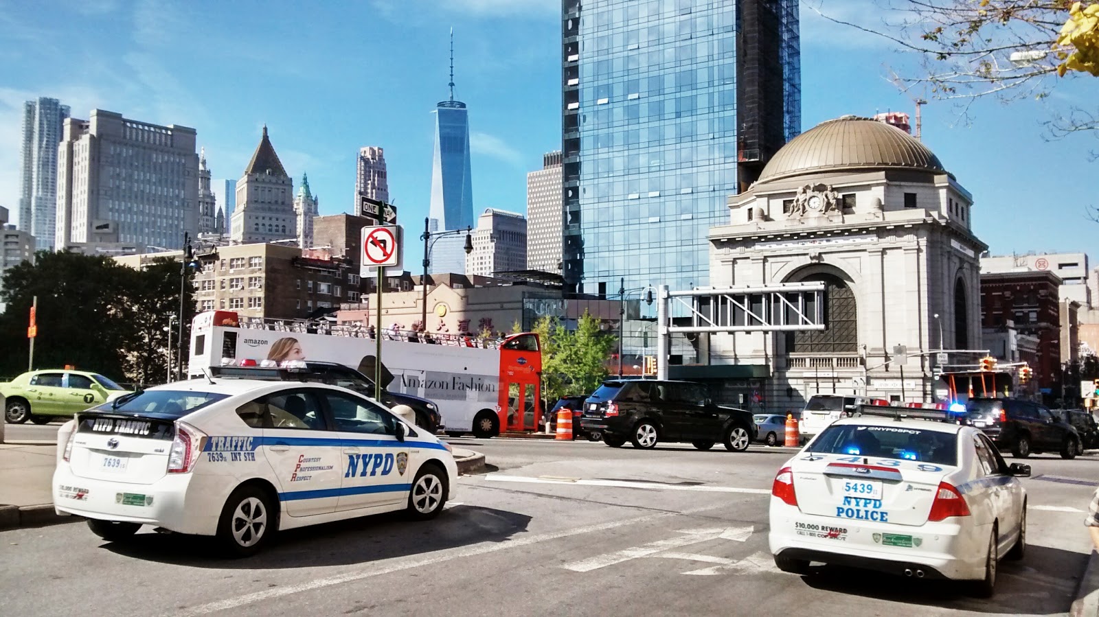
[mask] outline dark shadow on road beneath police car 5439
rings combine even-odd
[[[803,576],[815,590],[904,604],[992,614],[1055,615],[1068,612],[1088,556],[1029,546],[1022,561],[1001,561],[996,595],[981,599],[964,581],[902,579],[870,570],[819,565]]]

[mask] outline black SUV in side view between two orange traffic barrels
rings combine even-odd
[[[604,381],[584,402],[580,426],[612,448],[690,441],[709,450],[722,441],[734,452],[746,450],[757,430],[751,413],[714,405],[700,383],[640,379]]]

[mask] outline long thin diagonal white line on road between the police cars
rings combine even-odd
[[[173,610],[165,614],[166,617],[190,617],[193,615],[209,615],[211,613],[218,613],[219,610],[229,610],[231,608],[237,608],[240,606],[246,606],[249,604],[255,604],[257,602],[263,602],[265,599],[273,599],[278,597],[284,597],[288,595],[293,595],[302,592],[308,592],[312,590],[320,590],[324,587],[330,587],[333,585],[342,585],[344,583],[353,583],[355,581],[363,581],[365,579],[370,579],[374,576],[380,576],[382,574],[391,574],[393,572],[401,572],[404,570],[411,570],[413,568],[423,568],[426,565],[434,565],[436,563],[444,563],[447,561],[453,561],[455,559],[460,559],[464,557],[476,557],[479,554],[487,554],[491,552],[497,552],[506,549],[528,547],[531,545],[536,545],[540,542],[546,542],[550,540],[556,540],[558,538],[567,538],[569,536],[579,536],[582,534],[592,534],[596,531],[606,531],[608,529],[614,529],[617,527],[625,527],[628,525],[637,525],[650,523],[653,520],[659,520],[662,518],[668,518],[673,516],[691,515],[700,512],[706,512],[708,509],[715,509],[722,506],[704,506],[689,508],[681,512],[662,512],[658,514],[650,514],[646,516],[639,516],[634,518],[625,518],[622,520],[609,520],[607,523],[599,523],[596,525],[587,525],[584,527],[573,527],[569,529],[562,529],[560,531],[550,531],[546,534],[537,534],[534,536],[526,536],[515,540],[508,539],[502,542],[491,541],[491,542],[480,542],[473,545],[470,547],[459,547],[453,549],[446,549],[441,551],[434,551],[430,553],[429,557],[421,559],[409,559],[408,557],[395,557],[384,561],[379,561],[375,564],[364,564],[366,568],[375,565],[375,568],[363,571],[362,569],[356,569],[354,572],[346,572],[344,574],[336,574],[334,576],[326,576],[324,579],[315,579],[313,581],[307,581],[304,583],[298,583],[297,585],[288,585],[285,587],[276,587],[270,590],[265,590],[262,592],[256,592],[252,594],[245,594],[242,596],[222,599],[218,602],[211,602],[208,604],[202,604],[192,607],[190,610]]]

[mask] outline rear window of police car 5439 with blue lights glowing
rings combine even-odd
[[[957,434],[904,426],[834,424],[821,431],[809,451],[955,465]]]

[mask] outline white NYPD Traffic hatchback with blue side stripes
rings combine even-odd
[[[322,383],[193,379],[82,412],[54,472],[59,514],[122,540],[142,525],[259,550],[278,529],[390,511],[436,516],[451,447]]]

